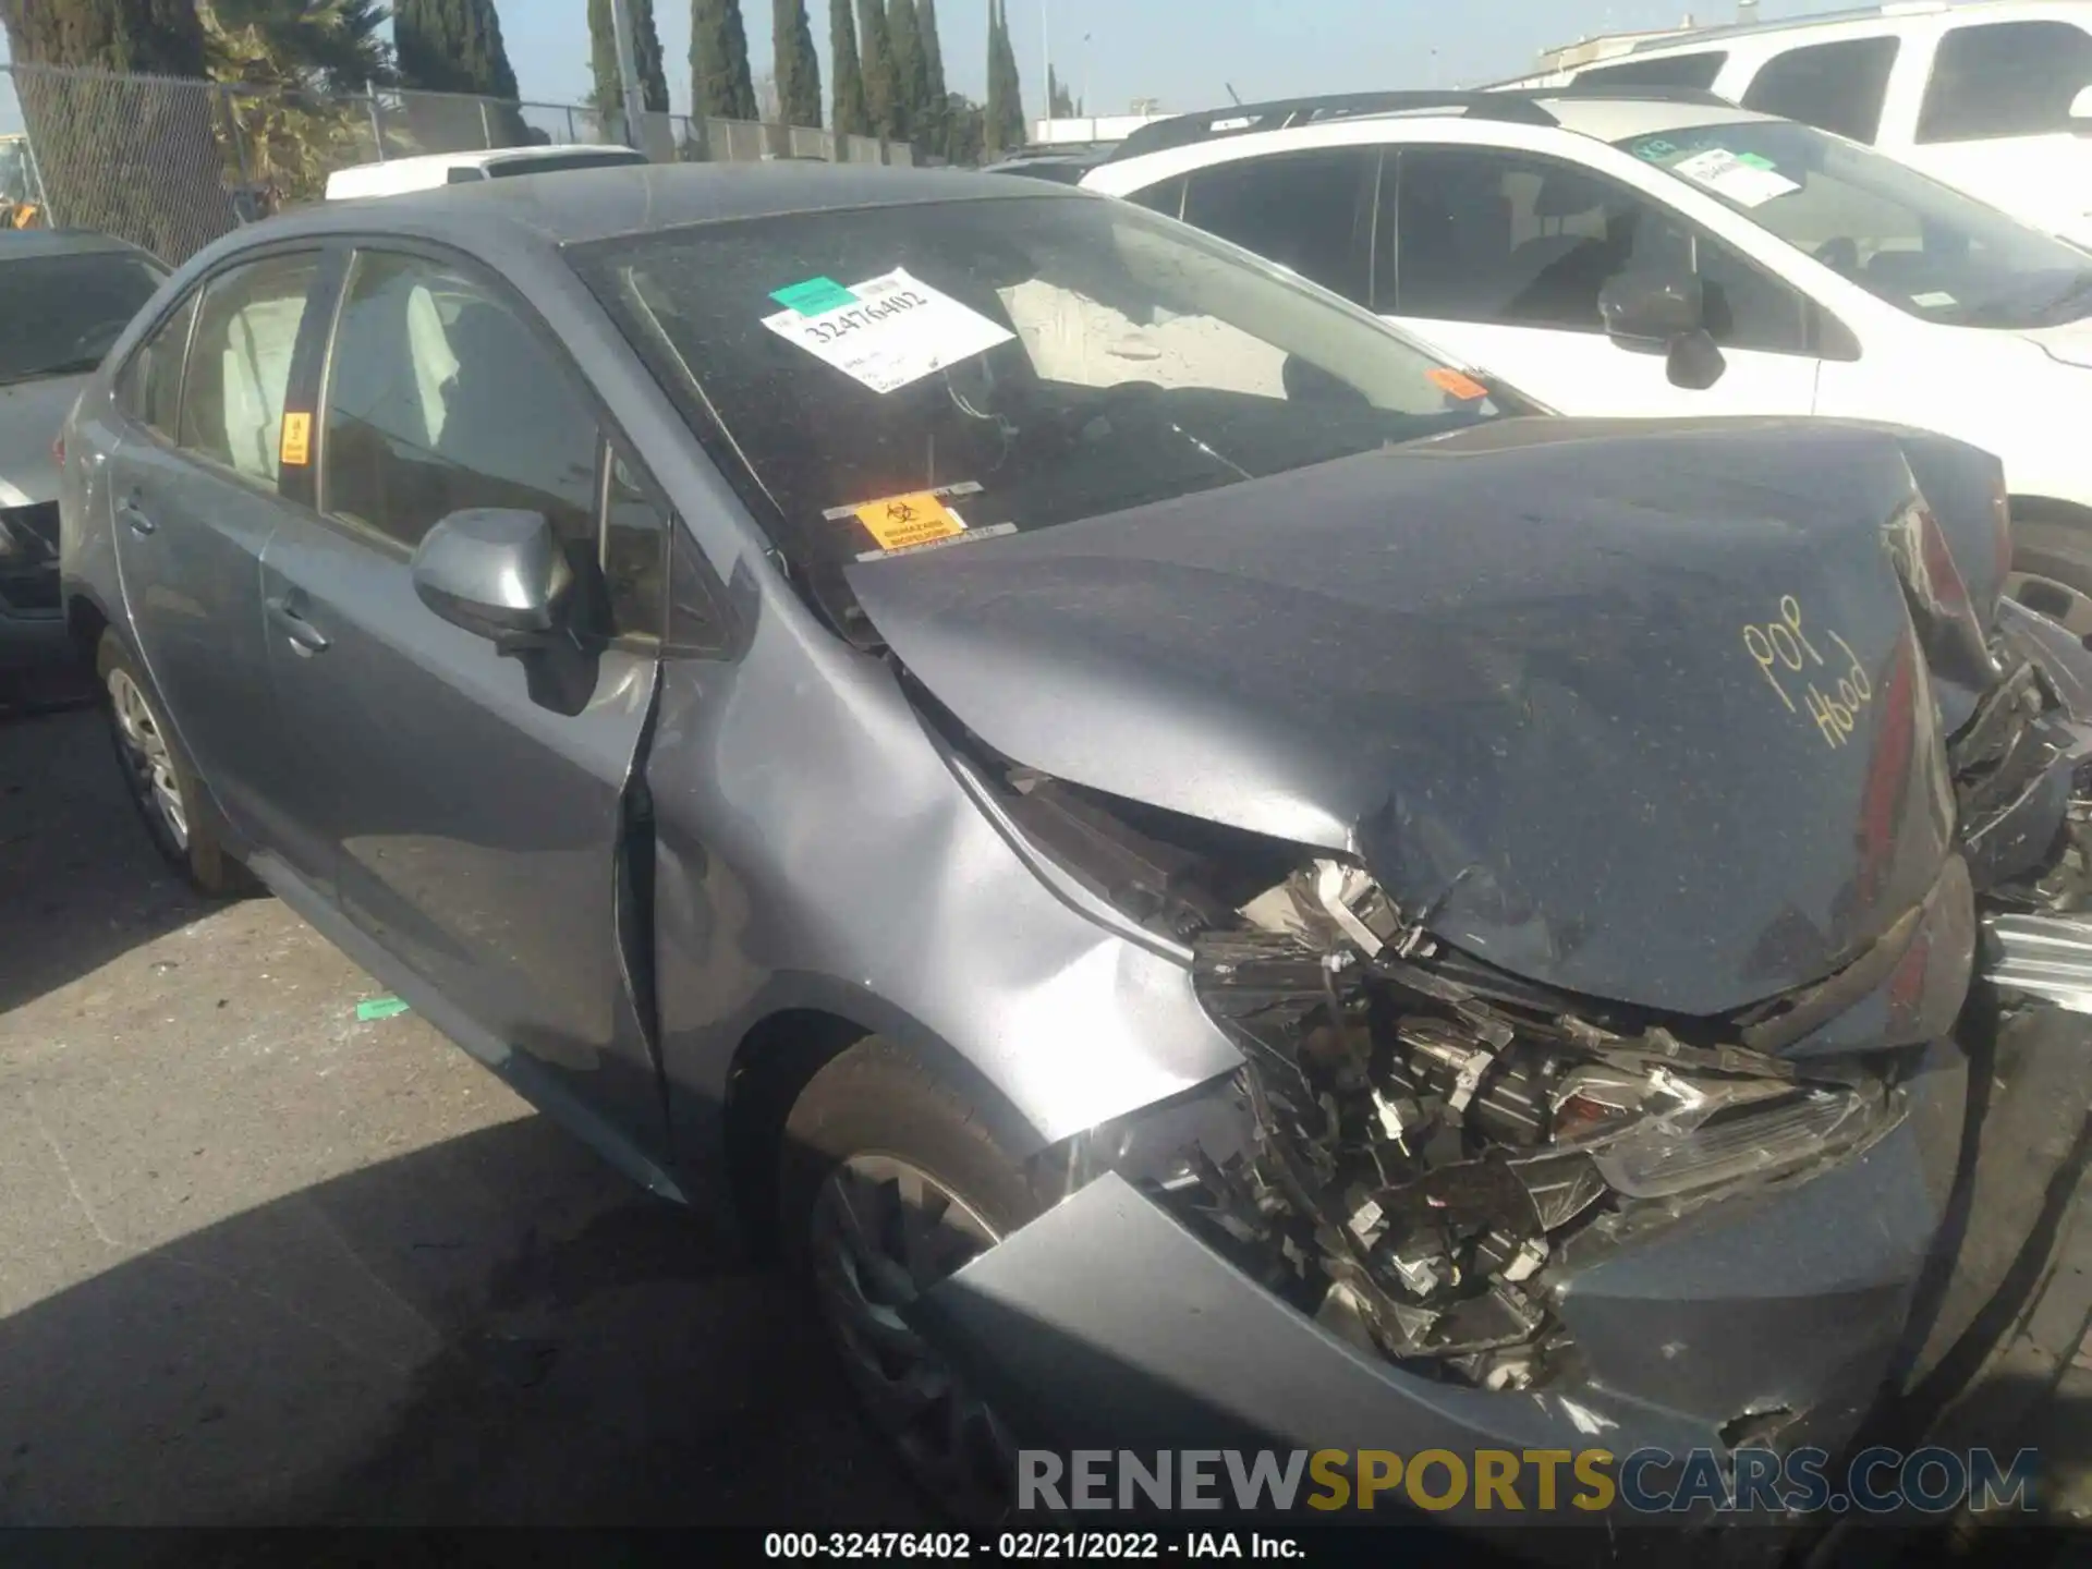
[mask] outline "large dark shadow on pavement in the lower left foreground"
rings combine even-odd
[[[0,1525],[923,1525],[797,1287],[542,1117],[0,1320]]]

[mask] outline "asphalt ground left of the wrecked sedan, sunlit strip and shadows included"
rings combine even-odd
[[[923,1525],[793,1287],[0,720],[0,1525]]]

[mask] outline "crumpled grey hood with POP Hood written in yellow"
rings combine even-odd
[[[1529,979],[1713,1015],[1939,874],[1998,464],[1826,420],[1506,420],[854,567],[1015,761],[1356,851]]]

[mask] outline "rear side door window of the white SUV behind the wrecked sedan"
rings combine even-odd
[[[1354,301],[1366,299],[1374,149],[1339,146],[1218,163],[1190,176],[1184,222]]]

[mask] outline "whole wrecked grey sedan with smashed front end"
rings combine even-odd
[[[1048,182],[318,205],[90,385],[67,615],[165,856],[730,1195],[954,1510],[1923,1420],[2092,1314],[2092,657],[1975,448],[1531,408]]]

